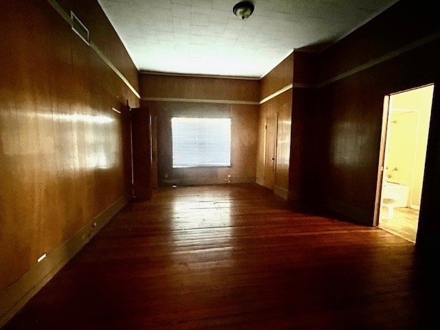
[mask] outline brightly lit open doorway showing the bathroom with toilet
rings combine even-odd
[[[380,157],[379,228],[415,243],[434,85],[386,97]]]

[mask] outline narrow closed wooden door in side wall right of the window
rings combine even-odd
[[[276,166],[276,115],[266,119],[265,133],[265,159],[264,159],[264,186],[274,190]]]

